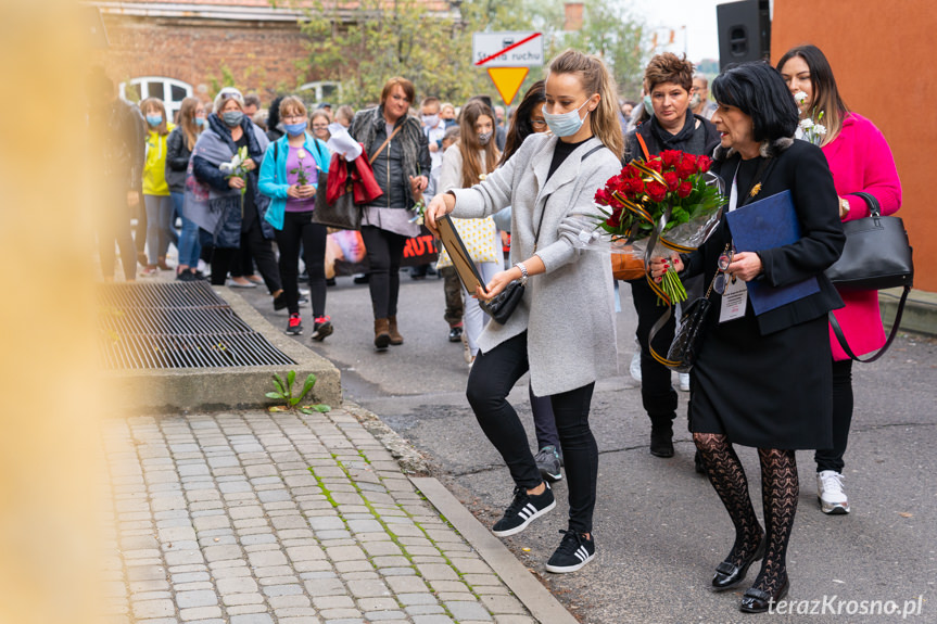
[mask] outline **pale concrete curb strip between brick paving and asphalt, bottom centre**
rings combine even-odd
[[[579,624],[578,620],[524,568],[523,563],[518,561],[511,551],[492,535],[442,483],[431,476],[411,476],[410,482],[481,555],[537,622]]]

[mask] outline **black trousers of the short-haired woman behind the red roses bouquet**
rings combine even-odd
[[[654,426],[672,426],[676,418],[676,391],[670,383],[670,369],[654,359],[648,349],[650,328],[667,309],[657,305],[657,294],[644,280],[634,280],[631,295],[637,313],[637,342],[641,344],[641,402]],[[673,316],[654,336],[654,351],[667,356],[673,342],[675,320]]]

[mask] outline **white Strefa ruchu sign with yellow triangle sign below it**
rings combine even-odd
[[[509,106],[530,68],[543,65],[543,34],[472,33],[472,62],[488,69],[502,100]]]

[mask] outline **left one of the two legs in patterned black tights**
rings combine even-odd
[[[702,455],[709,481],[735,525],[735,544],[725,560],[742,565],[758,549],[764,534],[751,506],[745,469],[724,435],[694,433],[693,440]]]

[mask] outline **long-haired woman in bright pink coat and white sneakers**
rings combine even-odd
[[[856,193],[876,199],[883,215],[901,206],[901,180],[888,142],[875,125],[851,112],[839,97],[833,69],[815,46],[790,49],[777,62],[777,71],[792,93],[802,93],[801,118],[816,119],[826,127],[820,148],[830,163],[839,217],[844,221],[870,215],[870,205]],[[862,355],[885,344],[877,291],[839,291],[846,307],[836,311],[836,320],[853,353]],[[849,499],[843,488],[843,456],[852,422],[852,359],[831,330],[833,349],[833,446],[820,448],[816,461],[816,496],[824,513],[849,513]]]

